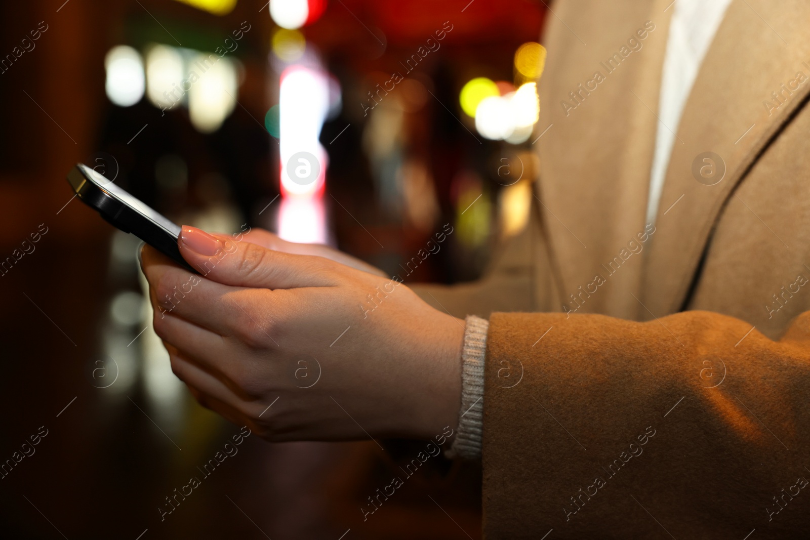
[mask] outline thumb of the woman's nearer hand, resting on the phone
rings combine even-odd
[[[339,267],[323,257],[274,251],[189,225],[183,225],[177,245],[200,274],[232,287],[329,287],[335,285]]]

